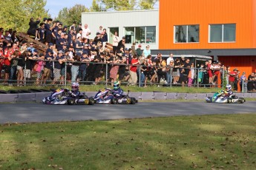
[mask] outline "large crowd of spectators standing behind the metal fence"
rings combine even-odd
[[[39,27],[37,25],[39,24]],[[226,81],[234,90],[248,82],[248,90],[255,90],[255,74],[246,78],[237,69],[230,71],[220,61],[206,61],[195,67],[190,58],[164,58],[161,53],[152,57],[150,46],[144,50],[140,44],[131,48],[125,45],[125,37],[114,33],[113,50],[105,48],[108,42],[106,29],[91,31],[88,24],[76,26],[76,22],[63,26],[51,18],[30,19],[27,31],[36,41],[47,45],[45,53],[39,53],[33,41],[19,41],[16,31],[0,28],[0,78],[3,84],[23,86],[30,84],[36,74],[35,84],[65,84],[65,81],[99,84],[101,81],[125,82],[129,86],[194,86],[194,83],[214,86],[220,84],[217,77],[226,73]],[[108,66],[107,66],[108,65]],[[2,71],[3,70],[3,71]]]

